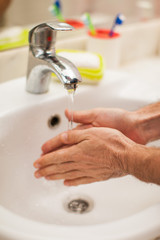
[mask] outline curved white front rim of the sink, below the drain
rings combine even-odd
[[[0,229],[2,229],[3,234],[6,236],[25,236],[28,239],[33,237],[39,237],[39,239],[47,240],[50,237],[58,237],[64,240],[66,237],[72,239],[73,231],[76,235],[76,239],[82,239],[81,237],[86,237],[86,239],[124,239],[129,240],[134,239],[134,236],[138,236],[137,239],[150,239],[155,236],[155,234],[160,234],[160,203],[149,207],[139,213],[129,216],[124,219],[120,219],[111,223],[103,224],[93,224],[93,225],[80,225],[80,226],[65,226],[65,225],[55,225],[46,224],[41,222],[36,222],[30,219],[23,218],[10,212],[9,210],[0,207],[1,214],[5,214]],[[157,218],[155,218],[155,213],[157,213]],[[6,224],[6,219],[9,219],[9,224]],[[7,222],[7,223],[8,223]],[[142,226],[143,223],[143,226]],[[127,228],[126,228],[127,225]],[[15,230],[15,227],[20,230]],[[116,231],[115,231],[116,229]],[[146,230],[147,229],[147,230]],[[28,234],[28,232],[30,234]],[[91,236],[92,232],[92,236]],[[44,235],[47,233],[47,235]],[[49,234],[49,235],[48,235]],[[117,238],[118,236],[118,238]]]

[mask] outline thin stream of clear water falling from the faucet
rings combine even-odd
[[[71,119],[70,121],[68,120],[68,130],[73,129],[74,95],[75,95],[74,89],[68,90],[68,110],[71,113]]]

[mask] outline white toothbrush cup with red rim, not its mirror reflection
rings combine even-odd
[[[110,30],[96,29],[96,34],[88,32],[87,50],[102,55],[107,69],[116,69],[120,64],[121,35]]]

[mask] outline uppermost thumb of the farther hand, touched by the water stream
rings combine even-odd
[[[73,121],[77,123],[90,124],[94,121],[96,117],[94,110],[73,111],[73,112],[69,112],[68,109],[65,110],[65,115],[70,121],[72,119],[72,114],[73,114]]]

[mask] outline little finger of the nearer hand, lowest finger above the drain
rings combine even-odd
[[[89,184],[96,182],[97,180],[92,177],[81,177],[81,178],[75,178],[75,179],[66,179],[64,180],[64,185],[66,186],[78,186],[81,184]]]

